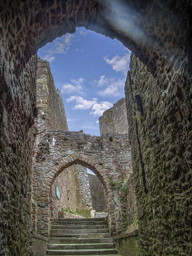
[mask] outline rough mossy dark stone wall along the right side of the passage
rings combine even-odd
[[[192,91],[184,77],[163,88],[131,55],[125,93],[144,255],[192,251]]]

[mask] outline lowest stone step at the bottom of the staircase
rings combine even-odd
[[[116,249],[82,249],[82,250],[47,250],[47,255],[113,255],[117,254]]]

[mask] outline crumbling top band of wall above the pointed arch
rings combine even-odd
[[[72,152],[102,152],[108,153],[130,151],[130,141],[127,134],[105,133],[102,136],[92,136],[84,134],[83,131],[64,131],[58,130],[45,134],[38,145],[42,149],[42,145],[47,145],[50,152],[52,148],[62,150],[64,154]],[[60,148],[62,146],[62,148]],[[46,146],[44,146],[46,147]],[[39,154],[39,150],[37,154]],[[127,161],[128,162],[128,161]]]

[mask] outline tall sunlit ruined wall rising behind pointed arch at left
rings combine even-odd
[[[38,118],[35,126],[38,130],[36,143],[41,136],[59,129],[68,131],[67,119],[60,90],[56,90],[49,63],[38,57],[36,80]]]

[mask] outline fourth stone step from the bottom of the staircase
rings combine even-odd
[[[60,230],[60,229],[58,229]],[[55,229],[55,231],[58,231]],[[61,230],[63,231],[63,230]],[[112,237],[111,233],[97,233],[97,234],[62,234],[62,233],[51,233],[50,238],[108,238]]]

